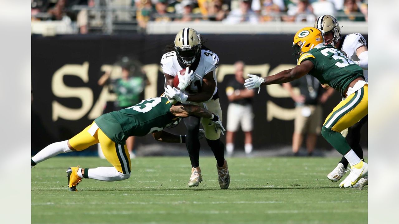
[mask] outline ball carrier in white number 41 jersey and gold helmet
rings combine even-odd
[[[216,86],[215,69],[219,65],[219,57],[203,45],[201,37],[192,28],[180,30],[173,44],[168,45],[167,53],[162,56],[161,67],[165,76],[165,94],[170,100],[183,104],[195,104],[207,108],[222,120],[219,95]],[[186,69],[182,75],[180,71]],[[175,76],[178,76],[178,86],[174,86]],[[206,141],[215,155],[217,173],[221,189],[227,189],[230,184],[229,169],[224,159],[225,145],[220,141],[220,130],[208,119],[191,117],[184,119],[187,128],[186,146],[191,161],[191,177],[189,187],[198,186],[202,181],[199,168],[198,130],[201,123],[205,130]],[[223,130],[222,130],[223,131]]]

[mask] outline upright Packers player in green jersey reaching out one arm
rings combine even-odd
[[[345,100],[341,101],[328,115],[322,127],[322,136],[349,161],[351,172],[340,183],[340,187],[355,185],[368,171],[367,163],[361,161],[351,149],[342,130],[354,125],[367,115],[368,84],[363,69],[332,45],[324,44],[322,32],[314,27],[300,29],[294,36],[294,55],[297,66],[264,78],[249,74],[245,80],[248,89],[261,85],[287,83],[310,74],[322,83],[324,88],[338,90]]]

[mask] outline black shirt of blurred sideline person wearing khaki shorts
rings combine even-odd
[[[318,99],[320,96],[323,94],[324,89],[320,85],[320,82],[313,77],[312,75],[304,75],[300,77],[299,79],[295,79],[294,81],[290,82],[290,84],[293,87],[299,87],[300,89],[300,94],[305,96],[305,102],[304,104],[308,105],[317,105],[319,104]],[[315,92],[314,97],[311,97],[310,90]]]

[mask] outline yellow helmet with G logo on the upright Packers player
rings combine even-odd
[[[310,51],[314,46],[324,43],[324,37],[319,29],[305,27],[296,32],[292,47],[295,49],[293,54],[296,59],[304,52]]]

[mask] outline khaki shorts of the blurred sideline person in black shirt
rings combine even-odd
[[[304,105],[295,108],[295,133],[320,134],[321,128],[322,107],[320,105]]]

